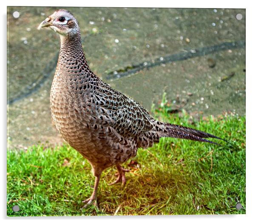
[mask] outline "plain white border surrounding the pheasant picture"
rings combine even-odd
[[[241,222],[242,220],[253,220],[255,219],[254,207],[256,206],[256,196],[255,196],[255,158],[256,158],[256,146],[253,143],[253,137],[255,134],[255,113],[256,109],[254,108],[255,100],[255,75],[256,75],[256,63],[255,63],[255,42],[256,42],[256,33],[255,33],[255,14],[256,8],[253,7],[252,1],[224,1],[224,0],[214,0],[214,1],[202,1],[202,0],[183,0],[183,1],[138,1],[138,0],[129,0],[129,1],[117,1],[117,0],[94,0],[94,1],[68,1],[68,0],[43,0],[43,1],[31,1],[31,0],[9,0],[6,4],[1,2],[1,33],[0,36],[0,46],[1,46],[1,97],[0,103],[1,107],[1,142],[2,142],[2,184],[1,186],[1,197],[0,197],[0,210],[3,220],[18,220],[18,221],[27,221],[28,217],[19,217],[19,218],[7,218],[6,217],[6,6],[80,6],[80,7],[156,7],[156,8],[246,8],[246,132],[247,132],[247,151],[246,151],[246,215],[221,215],[221,216],[209,216],[209,215],[200,215],[200,216],[151,216],[142,217],[142,216],[127,216],[127,217],[75,217],[75,220],[103,220],[111,222],[130,222],[131,220],[163,220],[170,222],[171,220],[190,222],[190,223],[200,223],[207,221],[208,223],[216,221],[220,222]],[[249,121],[248,121],[249,120]],[[73,217],[72,217],[73,218]],[[245,219],[246,218],[246,219]],[[45,220],[45,217],[29,217],[29,219],[40,219]],[[61,221],[70,221],[71,217],[48,217],[48,220],[61,220]]]

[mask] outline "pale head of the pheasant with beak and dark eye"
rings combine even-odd
[[[59,9],[40,23],[37,29],[49,27],[60,36],[75,36],[80,33],[76,18],[67,10]]]

